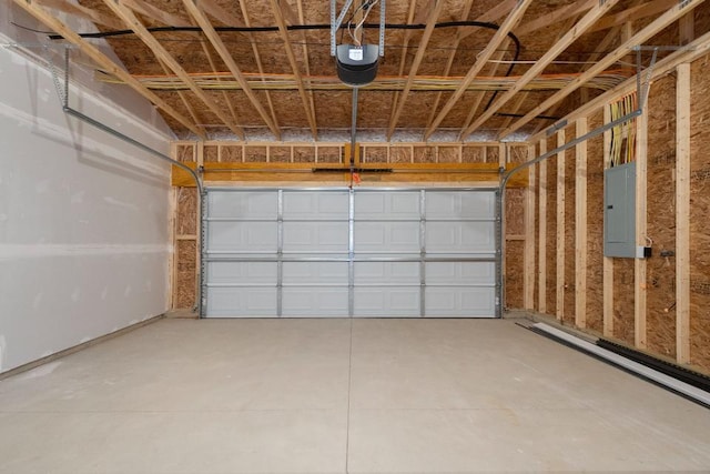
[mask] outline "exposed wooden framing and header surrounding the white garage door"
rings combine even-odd
[[[445,185],[497,186],[500,168],[510,169],[529,160],[535,150],[527,143],[349,143],[341,142],[235,142],[179,141],[172,157],[193,169],[202,167],[211,186],[347,186],[347,185]],[[351,154],[361,170],[355,181],[349,172]],[[320,171],[314,172],[314,168]],[[382,172],[383,169],[393,172]],[[331,171],[333,170],[333,171]],[[368,171],[368,170],[372,170]],[[508,183],[507,294],[514,306],[532,309],[535,282],[535,174],[519,173]],[[194,181],[173,167],[175,210],[171,262],[173,307],[194,302],[199,269]],[[532,223],[532,224],[530,224]],[[523,293],[526,292],[526,301]]]

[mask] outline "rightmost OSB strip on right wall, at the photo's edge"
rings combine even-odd
[[[691,68],[690,362],[710,370],[710,56]]]

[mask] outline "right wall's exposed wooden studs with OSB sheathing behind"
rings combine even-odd
[[[550,317],[562,324],[710,374],[710,285],[707,284],[710,283],[707,276],[710,258],[706,256],[706,252],[710,252],[710,231],[703,222],[710,212],[710,195],[704,184],[710,179],[710,158],[703,152],[710,140],[704,125],[710,119],[710,79],[701,72],[710,64],[709,41],[710,37],[704,38],[694,42],[698,48],[694,51],[659,63],[649,103],[636,120],[637,245],[650,245],[652,256],[605,258],[599,255],[602,249],[596,242],[588,242],[589,226],[604,219],[601,205],[588,205],[587,186],[594,186],[597,195],[602,189],[604,175],[599,170],[609,167],[610,133],[607,132],[599,139],[601,145],[588,149],[587,142],[580,143],[575,147],[574,155],[568,150],[557,154],[557,163],[537,165],[540,177],[538,260],[531,284],[537,285],[535,310],[539,313],[551,311]],[[607,104],[633,90],[633,85],[623,84],[568,115],[566,119],[575,129],[560,129],[550,139],[561,145],[600,122],[609,122]],[[592,125],[591,117],[599,123]],[[569,137],[570,131],[574,137]],[[541,133],[534,137],[532,142],[538,155],[549,150],[550,142]],[[570,179],[566,175],[570,170],[566,162],[570,160],[576,162],[574,196],[566,195],[569,192],[566,183]],[[598,171],[591,171],[592,164]],[[552,183],[546,181],[550,165],[556,168]],[[550,194],[549,186],[556,186],[556,192]],[[575,208],[566,202],[569,199],[575,200]],[[550,206],[556,209],[554,228],[549,223]],[[569,209],[574,210],[572,215]],[[571,249],[567,248],[569,238],[566,239],[570,225],[575,230]],[[550,229],[554,234],[548,233]],[[556,252],[549,252],[545,242],[549,239],[556,241]],[[567,304],[565,301],[571,284],[569,269],[565,274],[570,259],[575,261],[572,320],[571,309],[567,307],[569,301]],[[601,291],[592,292],[588,286],[590,272],[601,275]],[[552,285],[550,274],[555,275]],[[548,305],[550,294],[552,302],[556,301],[555,309]],[[591,305],[601,309],[601,319],[594,324],[587,319]]]

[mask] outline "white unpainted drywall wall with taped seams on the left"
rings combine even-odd
[[[0,29],[3,46],[24,34]],[[145,100],[85,77],[73,108],[169,151],[171,133]],[[168,309],[170,167],[65,115],[51,73],[18,49],[0,47],[0,82],[6,372]]]

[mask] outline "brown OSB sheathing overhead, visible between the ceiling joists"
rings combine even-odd
[[[103,1],[100,0],[81,0],[81,3],[85,7],[97,10],[100,13],[113,17],[113,13],[108,9]],[[229,2],[225,0],[217,1],[223,9],[225,9],[232,17],[235,18],[239,24],[244,24],[246,21],[242,16],[242,11],[237,2]],[[473,2],[470,13],[467,18],[462,17],[465,9],[465,2],[462,0],[446,0],[442,8],[438,21],[446,22],[452,20],[463,19],[477,19],[481,14],[487,13],[491,8],[499,3],[498,0],[485,0]],[[523,20],[519,22],[519,27],[527,24],[528,22],[547,14],[552,10],[562,8],[572,3],[572,0],[539,0],[534,2],[526,11]],[[193,20],[189,18],[189,14],[184,11],[184,7],[180,2],[173,1],[155,1],[151,2],[152,6],[158,9],[162,9],[169,13],[180,17],[182,24],[193,24]],[[328,24],[329,11],[324,8],[324,4],[315,0],[306,0],[303,2],[305,23],[308,24]],[[430,8],[430,3],[420,0],[416,3],[416,21],[425,22],[427,20],[427,10]],[[273,27],[276,24],[274,12],[271,4],[266,0],[250,1],[248,17],[251,24],[254,27]],[[387,21],[390,23],[406,23],[407,12],[409,9],[408,1],[388,2],[387,3]],[[371,21],[376,21],[376,10]],[[146,27],[164,26],[161,22],[138,14]],[[493,19],[495,23],[500,24],[506,14],[499,18]],[[234,23],[224,18],[215,19],[211,18],[215,26],[226,26],[226,23]],[[235,26],[235,24],[230,24]],[[521,60],[535,60],[541,56],[560,36],[565,30],[566,24],[564,22],[555,22],[549,27],[540,29],[536,32],[525,34],[520,38],[521,41]],[[514,32],[516,29],[514,29]],[[460,32],[470,32],[467,34],[454,50],[455,39]],[[376,42],[376,30],[366,30],[366,40]],[[264,71],[266,73],[285,73],[291,74],[291,63],[286,54],[286,48],[284,48],[284,41],[278,32],[221,32],[222,38],[229,54],[235,59],[237,65],[243,72],[258,72],[256,57],[254,54],[254,48],[252,42],[255,43],[257,53],[261,56]],[[495,31],[480,27],[467,27],[467,28],[437,28],[432,34],[429,46],[424,54],[424,60],[419,64],[417,74],[443,74],[446,71],[446,64],[452,53],[455,53],[455,59],[449,70],[450,75],[465,75],[471,65],[475,64],[477,56],[487,46],[488,41],[493,38]],[[155,32],[154,36],[161,41],[165,50],[173,56],[178,62],[189,72],[211,72],[216,69],[220,72],[226,71],[227,68],[221,60],[220,56],[214,49],[207,44],[209,54],[205,53],[203,44],[206,44],[202,34],[196,32]],[[335,75],[334,60],[329,56],[329,31],[328,30],[312,30],[312,31],[290,31],[287,33],[288,39],[293,43],[293,53],[296,62],[303,74],[306,74],[306,57],[304,53],[303,44],[307,44],[307,62],[310,72],[314,75]],[[400,63],[404,58],[404,74],[410,72],[410,65],[417,53],[418,42],[423,36],[422,30],[396,30],[387,29],[385,39],[385,56],[381,59],[379,74],[381,75],[398,75],[400,73]],[[406,39],[408,38],[408,41]],[[596,44],[595,34],[589,36],[589,41],[582,40],[580,43]],[[159,62],[155,60],[155,56],[151,52],[139,39],[134,36],[130,37],[115,37],[108,40],[114,48],[116,54],[121,61],[128,65],[129,71],[134,74],[163,74],[163,70]],[[347,41],[347,38],[342,41]],[[405,48],[406,46],[406,48]],[[580,50],[589,49],[584,46],[576,47]],[[505,41],[500,48],[505,50],[504,59],[513,59],[515,51],[511,42]],[[212,64],[211,64],[212,62]],[[517,64],[511,74],[523,74],[529,68],[528,64]],[[498,70],[498,74],[506,73],[507,67],[501,67]],[[488,68],[484,71],[487,72]],[[229,107],[224,100],[224,95],[221,92],[209,92],[211,97],[214,97],[216,102],[224,114],[229,114]],[[266,109],[267,101],[264,91],[255,91],[262,105]],[[166,100],[174,109],[180,111],[183,115],[190,117],[187,108],[183,104],[182,100],[176,92],[160,92],[161,98]],[[192,92],[184,94],[190,102],[190,108],[196,114],[195,122],[212,125],[207,128],[210,133],[223,133],[229,132],[224,128],[219,127],[222,121],[201,101],[196,100]],[[234,109],[237,111],[236,122],[243,127],[263,127],[264,122],[256,109],[250,103],[246,97],[241,91],[227,92],[230,101],[233,102]],[[302,99],[296,91],[273,91],[271,92],[274,108],[276,109],[277,122],[281,127],[295,127],[307,128],[308,123]],[[317,114],[317,121],[320,128],[345,128],[349,125],[349,100],[346,99],[349,95],[348,91],[341,92],[314,92],[313,101],[315,111]],[[361,124],[366,128],[384,128],[389,123],[389,111],[394,102],[395,93],[388,92],[366,92],[362,100],[362,108],[365,113],[362,114]],[[438,93],[435,92],[417,92],[413,91],[407,98],[407,108],[403,113],[398,122],[398,127],[402,128],[424,128],[427,125],[427,114],[418,113],[420,110],[428,110],[433,108]],[[443,100],[439,101],[438,108],[444,107],[450,93],[443,94]],[[477,93],[467,93],[464,100],[458,101],[455,109],[449,113],[442,124],[443,127],[462,128],[464,121],[468,115],[473,101],[478,97]],[[487,100],[481,104],[485,107]],[[524,105],[524,109],[534,107],[535,99],[530,99]],[[410,111],[417,111],[417,113],[410,113]],[[507,109],[504,108],[504,111]],[[169,124],[179,134],[184,134],[184,125],[176,122],[174,119],[164,114]],[[500,122],[491,122],[485,124],[485,130],[497,130],[500,128]]]

